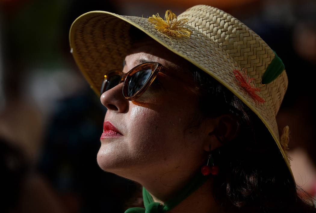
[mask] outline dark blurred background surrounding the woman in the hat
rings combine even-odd
[[[138,186],[97,165],[106,109],[73,61],[70,25],[92,10],[149,17],[196,4],[237,17],[282,58],[279,130],[289,125],[295,180],[316,196],[316,1],[0,0],[1,212],[124,212]]]

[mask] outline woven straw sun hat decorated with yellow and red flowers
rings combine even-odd
[[[204,70],[249,106],[269,129],[291,171],[285,154],[288,129],[280,140],[276,124],[288,85],[284,65],[276,53],[245,24],[220,9],[197,5],[178,17],[171,15],[166,12],[165,19],[178,18],[181,22],[174,31],[161,30],[164,23],[157,23],[158,14],[148,19],[92,11],[78,17],[70,28],[70,48],[91,88],[100,95],[106,72],[122,68],[131,46],[129,30],[137,27]]]

